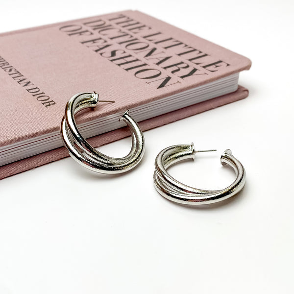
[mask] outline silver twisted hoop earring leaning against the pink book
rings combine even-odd
[[[83,138],[76,126],[74,115],[82,109],[95,107],[98,101],[98,94],[94,92],[76,94],[67,102],[60,129],[64,146],[74,160],[91,171],[106,174],[127,172],[139,164],[145,150],[144,135],[128,111],[123,114],[120,121],[125,122],[131,130],[132,147],[130,152],[122,158],[110,157],[96,150]],[[83,153],[74,143],[82,149]]]

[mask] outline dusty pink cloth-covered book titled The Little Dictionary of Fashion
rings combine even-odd
[[[76,116],[92,146],[242,98],[248,58],[139,11],[0,34],[0,179],[68,156],[59,128],[66,102],[97,91]]]

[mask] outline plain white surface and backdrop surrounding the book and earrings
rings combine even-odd
[[[133,171],[100,175],[66,158],[0,181],[0,294],[294,293],[293,1],[7,1],[0,31],[138,9],[252,60],[249,97],[145,132]],[[115,90],[115,89],[114,89]],[[217,148],[171,168],[221,189],[245,166],[243,191],[184,207],[153,187],[157,153]],[[100,150],[122,156],[130,138]]]

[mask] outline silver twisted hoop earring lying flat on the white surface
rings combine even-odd
[[[246,172],[241,162],[232,155],[230,149],[226,149],[221,155],[221,164],[228,164],[235,173],[235,181],[223,190],[201,190],[180,183],[174,179],[166,169],[184,159],[195,157],[196,152],[216,151],[203,150],[195,151],[194,144],[175,145],[165,148],[155,159],[154,183],[155,188],[162,196],[181,204],[200,205],[222,201],[239,193],[245,185]]]

